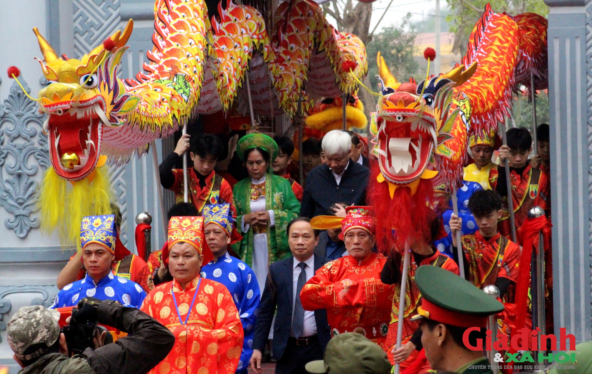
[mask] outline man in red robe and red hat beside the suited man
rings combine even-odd
[[[341,225],[348,256],[317,270],[300,292],[304,310],[327,309],[332,336],[354,332],[386,349],[388,321],[395,286],[380,281],[387,258],[372,253],[374,218],[369,207],[348,207],[346,217],[320,215],[311,220],[314,228]]]

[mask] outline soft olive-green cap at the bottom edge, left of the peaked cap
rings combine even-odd
[[[314,374],[389,374],[391,363],[382,348],[362,334],[343,333],[329,340],[323,360],[306,364]]]

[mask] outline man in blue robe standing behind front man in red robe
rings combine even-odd
[[[236,308],[239,309],[243,324],[244,342],[240,353],[237,373],[246,373],[249,359],[253,353],[253,334],[255,333],[255,309],[259,306],[259,283],[255,272],[241,260],[230,256],[228,247],[234,241],[233,218],[230,204],[205,205],[204,236],[214,259],[201,268],[201,276],[220,282],[228,288]],[[236,234],[235,234],[236,236]]]

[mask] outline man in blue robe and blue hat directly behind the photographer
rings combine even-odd
[[[73,307],[87,296],[115,300],[126,307],[140,307],[146,292],[138,283],[111,272],[116,240],[115,215],[82,218],[80,241],[86,276],[62,288],[50,308]]]

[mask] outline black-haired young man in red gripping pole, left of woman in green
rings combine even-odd
[[[233,217],[236,217],[232,188],[226,179],[214,171],[214,166],[224,151],[222,141],[213,134],[203,133],[192,140],[190,138],[188,134],[182,136],[175,151],[160,164],[160,184],[175,192],[176,202],[184,201],[183,169],[175,169],[175,165],[191,148],[189,157],[193,161],[193,167],[187,169],[189,202],[195,205],[200,214],[205,204],[228,202]]]

